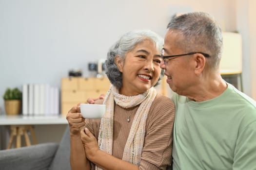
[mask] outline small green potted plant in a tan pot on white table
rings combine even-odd
[[[18,88],[7,88],[3,95],[7,115],[18,115],[21,110],[22,93]]]

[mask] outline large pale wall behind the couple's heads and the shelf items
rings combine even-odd
[[[175,12],[204,11],[236,30],[233,0],[0,0],[0,96],[24,83],[60,86],[71,68],[105,58],[130,30],[164,36]],[[0,98],[3,110],[3,100]]]

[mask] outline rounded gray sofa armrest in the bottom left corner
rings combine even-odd
[[[57,143],[44,143],[0,151],[0,170],[48,170],[58,149]]]

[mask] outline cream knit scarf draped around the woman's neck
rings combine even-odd
[[[122,160],[139,166],[144,144],[146,119],[156,95],[156,89],[151,87],[146,92],[137,96],[124,96],[118,93],[118,89],[115,86],[111,85],[103,102],[103,104],[106,104],[106,113],[101,119],[99,126],[99,149],[112,155],[115,102],[123,108],[130,108],[140,104],[133,120],[122,157]],[[96,170],[101,169],[96,166]]]

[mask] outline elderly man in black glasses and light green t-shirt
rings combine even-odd
[[[176,104],[173,170],[256,170],[256,102],[220,76],[220,27],[194,12],[167,28],[161,68]]]

